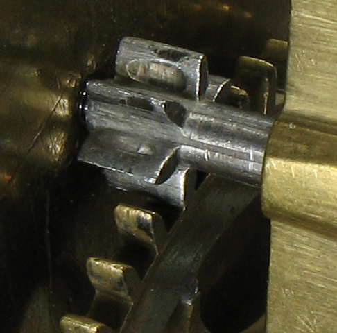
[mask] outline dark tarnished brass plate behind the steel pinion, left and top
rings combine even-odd
[[[194,49],[212,73],[230,76],[237,56],[287,39],[288,10],[288,0],[2,1],[1,330],[58,332],[62,314],[85,312],[86,257],[118,250],[112,207],[147,203],[108,189],[74,159],[85,135],[78,90],[87,77],[113,74],[118,40]]]

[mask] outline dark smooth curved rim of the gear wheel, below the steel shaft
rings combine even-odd
[[[216,178],[206,182],[186,216],[173,227],[166,249],[146,275],[141,298],[126,317],[121,332],[164,330],[178,304],[184,280],[198,275],[216,241],[257,195],[256,189],[225,181],[220,189],[212,191],[218,182]],[[225,202],[231,205],[223,205]],[[223,218],[217,219],[214,214]]]

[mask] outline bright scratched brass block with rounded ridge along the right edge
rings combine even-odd
[[[336,332],[336,1],[293,0],[286,108],[263,175],[268,332]]]

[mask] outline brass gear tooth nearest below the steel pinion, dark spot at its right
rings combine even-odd
[[[167,241],[167,231],[162,217],[148,210],[119,205],[114,210],[114,219],[120,234],[129,239],[137,239],[141,244],[162,252]]]

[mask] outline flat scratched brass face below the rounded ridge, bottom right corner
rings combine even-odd
[[[335,237],[272,222],[268,332],[336,332]]]

